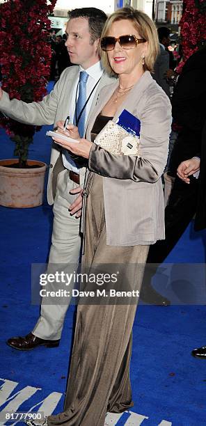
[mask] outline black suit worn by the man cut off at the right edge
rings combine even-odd
[[[148,263],[159,265],[164,262],[194,214],[196,214],[194,229],[201,230],[206,226],[205,72],[206,43],[202,42],[198,52],[191,55],[184,64],[172,99],[173,118],[181,129],[169,166],[174,184],[165,209],[166,239],[150,246]],[[177,168],[182,161],[185,165],[185,161],[196,157],[197,153],[200,153],[201,158],[200,179],[190,175],[190,184],[185,184],[182,178],[178,177]],[[155,271],[154,267],[151,276]]]

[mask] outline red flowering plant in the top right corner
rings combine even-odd
[[[180,19],[183,65],[198,49],[198,42],[205,38],[205,13],[205,0],[184,0]]]

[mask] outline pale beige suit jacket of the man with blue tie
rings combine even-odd
[[[10,118],[14,118],[21,123],[32,125],[54,124],[55,127],[57,121],[65,120],[68,116],[68,105],[72,100],[72,89],[75,81],[77,80],[78,73],[78,66],[66,68],[61,74],[60,79],[55,84],[52,92],[45,96],[41,102],[31,102],[30,104],[26,104],[26,102],[19,100],[10,100],[8,93],[3,92],[3,96],[0,101],[0,110],[6,113],[6,115]],[[106,73],[102,75],[95,92],[90,113],[88,114],[88,120],[90,119],[93,108],[95,107],[100,90],[106,84],[111,84],[111,81],[113,81],[113,79],[111,79],[111,77],[109,77]],[[60,155],[61,147],[56,145],[56,143],[52,143],[49,178],[47,184],[47,199],[49,204],[54,203],[53,180],[56,181],[54,166]],[[80,169],[80,184],[82,186],[84,185],[85,171],[86,169],[84,167]]]

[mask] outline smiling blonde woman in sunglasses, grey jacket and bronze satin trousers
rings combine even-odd
[[[161,174],[171,107],[150,75],[158,40],[147,15],[117,10],[106,22],[101,45],[104,66],[118,80],[100,93],[87,139],[79,144],[55,141],[88,159],[84,265],[98,270],[101,264],[132,265],[129,272],[121,271],[122,282],[127,279],[130,287],[140,289],[143,268],[138,265],[145,265],[149,245],[164,238]],[[141,121],[141,157],[112,155],[89,140],[123,109]],[[77,129],[68,129],[65,133],[77,138]],[[129,361],[136,303],[103,303],[78,306],[65,411],[49,416],[49,426],[103,426],[106,411],[120,413],[133,406]]]

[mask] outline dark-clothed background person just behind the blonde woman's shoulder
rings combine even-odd
[[[170,97],[170,86],[166,78],[166,72],[168,71],[170,56],[167,52],[168,45],[170,44],[170,30],[166,26],[160,26],[157,29],[159,37],[159,48],[160,53],[157,56],[157,60],[154,63],[154,74],[152,77],[157,81],[157,84],[163,88],[164,92]]]

